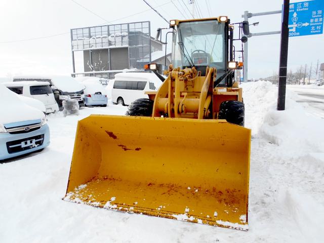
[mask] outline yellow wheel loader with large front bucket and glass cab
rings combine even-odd
[[[64,199],[247,230],[251,130],[233,82],[233,26],[222,16],[170,27],[173,65],[158,91],[128,116],[78,122]]]

